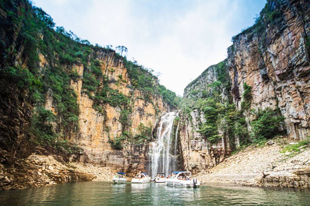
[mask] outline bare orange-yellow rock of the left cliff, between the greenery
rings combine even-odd
[[[117,89],[120,93],[131,99],[131,125],[129,131],[132,135],[138,133],[140,123],[150,125],[154,130],[158,118],[170,111],[169,105],[159,95],[153,95],[151,101],[141,99],[143,94],[139,90],[131,88],[131,82],[127,75],[127,69],[120,59],[113,58],[115,53],[99,53],[98,60],[101,63],[102,73],[109,81],[108,86]],[[72,68],[83,76],[83,65]],[[120,79],[122,77],[122,79]],[[71,81],[71,86],[77,93],[79,105],[79,133],[80,136],[73,142],[84,151],[88,161],[100,163],[111,168],[118,168],[124,172],[135,173],[145,170],[147,162],[148,144],[135,145],[130,142],[122,150],[111,148],[109,140],[120,136],[123,126],[120,122],[122,108],[109,104],[102,105],[104,113],[93,108],[94,101],[87,94],[82,93],[82,78]],[[152,102],[152,103],[151,103]],[[82,157],[85,158],[85,157]]]

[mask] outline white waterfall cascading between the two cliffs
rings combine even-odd
[[[157,128],[157,141],[150,143],[148,156],[150,160],[149,172],[151,177],[155,176],[157,172],[164,172],[168,175],[171,174],[173,169],[175,169],[175,157],[177,155],[176,139],[174,148],[170,148],[170,145],[172,139],[171,134],[173,130],[173,120],[177,115],[177,112],[169,112],[161,117],[159,127]]]

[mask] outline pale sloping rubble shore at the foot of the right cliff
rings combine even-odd
[[[274,139],[263,147],[250,146],[196,176],[206,183],[310,188],[310,149],[283,152],[289,144],[286,141]]]

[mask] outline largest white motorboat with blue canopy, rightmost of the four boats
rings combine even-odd
[[[191,178],[191,172],[173,172],[174,177],[165,179],[165,184],[170,186],[181,186],[181,187],[199,187],[201,185],[200,181]]]

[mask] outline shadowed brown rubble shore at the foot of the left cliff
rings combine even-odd
[[[67,182],[110,181],[116,170],[101,165],[61,161],[57,155],[37,155],[0,164],[0,189],[23,189]]]

